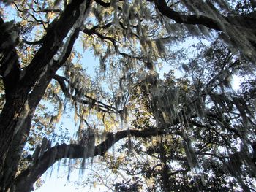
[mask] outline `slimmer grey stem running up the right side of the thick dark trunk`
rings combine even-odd
[[[69,42],[69,46],[67,48],[67,53],[64,56],[63,60],[60,62],[56,61],[56,63],[53,64],[52,67],[49,67],[47,72],[45,72],[45,75],[41,77],[37,85],[34,86],[33,91],[31,91],[31,93],[29,94],[28,101],[30,106],[29,108],[31,110],[29,110],[29,115],[25,119],[23,127],[20,128],[17,134],[15,134],[15,137],[10,145],[10,151],[9,153],[7,153],[7,158],[4,162],[4,177],[1,180],[2,183],[5,183],[5,188],[9,188],[9,186],[12,184],[12,180],[14,180],[15,173],[17,172],[18,161],[23,151],[23,147],[26,144],[26,138],[29,136],[31,120],[34,116],[34,111],[37,107],[37,104],[39,104],[39,101],[42,99],[42,96],[45,93],[48,84],[52,80],[53,76],[56,74],[59,66],[64,64],[64,61],[67,60],[69,54],[71,53],[72,45],[75,43],[75,39],[78,38],[78,34],[79,30],[77,30],[71,38],[71,41]],[[10,167],[12,169],[10,169]]]

